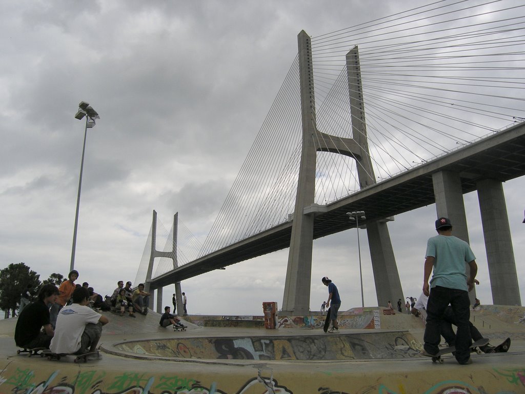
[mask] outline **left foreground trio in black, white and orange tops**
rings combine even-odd
[[[37,301],[27,305],[18,317],[17,346],[50,349],[56,354],[93,352],[88,359],[102,357],[96,349],[102,326],[108,324],[109,319],[89,306],[93,295],[86,287],[75,286],[77,278],[78,272],[73,270],[60,288],[54,284],[40,288]],[[70,299],[72,303],[67,305]]]

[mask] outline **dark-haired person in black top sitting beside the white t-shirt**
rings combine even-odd
[[[15,328],[16,346],[24,349],[48,349],[55,331],[49,321],[49,306],[58,298],[58,288],[47,284],[40,288],[38,300],[24,308]],[[43,331],[40,328],[44,327]]]

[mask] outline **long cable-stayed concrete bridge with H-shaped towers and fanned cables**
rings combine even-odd
[[[312,239],[349,229],[345,213],[362,210],[383,305],[403,294],[389,218],[435,202],[468,241],[463,194],[477,190],[494,302],[520,304],[501,182],[525,171],[523,6],[438,3],[301,32],[208,237],[184,263],[180,242],[153,244],[150,288],[290,247],[283,310],[306,313]],[[169,271],[153,274],[158,257]]]

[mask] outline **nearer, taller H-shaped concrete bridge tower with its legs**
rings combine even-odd
[[[290,314],[307,314],[310,309],[313,222],[317,215],[326,212],[325,206],[314,203],[317,152],[340,153],[354,158],[358,162],[361,187],[375,183],[375,176],[366,140],[357,48],[350,51],[346,57],[354,138],[340,138],[317,129],[311,42],[304,30],[298,35],[298,46],[302,151],[282,310]],[[366,225],[377,301],[379,305],[385,305],[389,299],[403,297],[401,281],[386,223],[367,221]]]

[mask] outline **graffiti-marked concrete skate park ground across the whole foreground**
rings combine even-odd
[[[507,353],[475,354],[458,365],[418,354],[424,322],[385,308],[340,312],[340,333],[322,331],[324,316],[186,316],[186,331],[104,312],[103,358],[75,364],[17,355],[16,318],[0,320],[0,394],[509,394],[525,393],[525,307],[481,305],[471,322]]]

